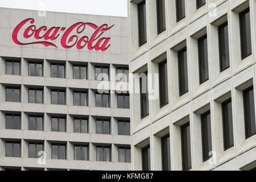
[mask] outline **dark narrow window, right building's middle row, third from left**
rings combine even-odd
[[[179,92],[183,96],[188,92],[188,61],[187,47],[178,52],[178,67],[179,67]]]

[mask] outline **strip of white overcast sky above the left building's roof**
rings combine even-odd
[[[0,7],[127,16],[127,0],[0,0]]]

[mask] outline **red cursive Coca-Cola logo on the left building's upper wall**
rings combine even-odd
[[[60,39],[60,44],[62,47],[69,49],[76,46],[77,49],[82,49],[87,46],[89,50],[96,50],[96,51],[106,51],[110,47],[109,40],[110,38],[105,38],[101,36],[104,32],[110,30],[113,26],[109,27],[108,24],[102,24],[102,26],[98,27],[93,23],[75,23],[71,27],[51,27],[47,28],[46,26],[42,26],[36,28],[34,25],[35,20],[33,18],[28,18],[23,20],[15,27],[13,31],[13,42],[18,44],[19,46],[25,46],[30,44],[43,44],[44,46],[54,46],[57,47],[55,44],[51,42],[51,40]],[[22,28],[25,31],[20,32]],[[84,32],[86,28],[93,28],[94,33],[90,38],[88,36],[82,36],[79,38],[79,34]],[[63,36],[60,38],[60,32],[64,32]],[[25,39],[32,39],[34,38],[38,41],[22,43],[18,40],[18,34],[21,33]]]

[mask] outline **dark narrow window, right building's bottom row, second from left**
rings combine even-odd
[[[170,135],[161,138],[162,143],[162,170],[171,171]]]

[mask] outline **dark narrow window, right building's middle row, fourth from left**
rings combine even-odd
[[[200,84],[209,80],[207,35],[198,39]]]

